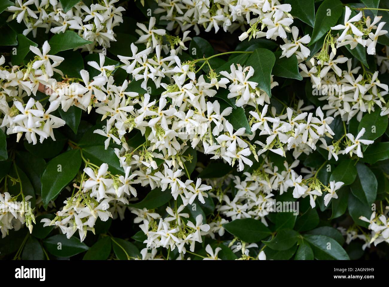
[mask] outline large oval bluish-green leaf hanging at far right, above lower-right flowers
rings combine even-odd
[[[358,176],[350,186],[352,194],[365,204],[372,204],[377,197],[377,179],[364,164],[357,163]]]

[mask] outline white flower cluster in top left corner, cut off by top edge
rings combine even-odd
[[[103,0],[88,7],[84,2],[75,4],[65,11],[58,0],[16,0],[8,11],[14,12],[9,20],[16,18],[25,24],[23,35],[33,33],[37,36],[38,28],[45,28],[46,33],[64,33],[73,30],[83,39],[91,41],[80,49],[93,51],[96,46],[110,47],[116,41],[113,28],[123,23],[123,7],[115,7],[118,0]]]

